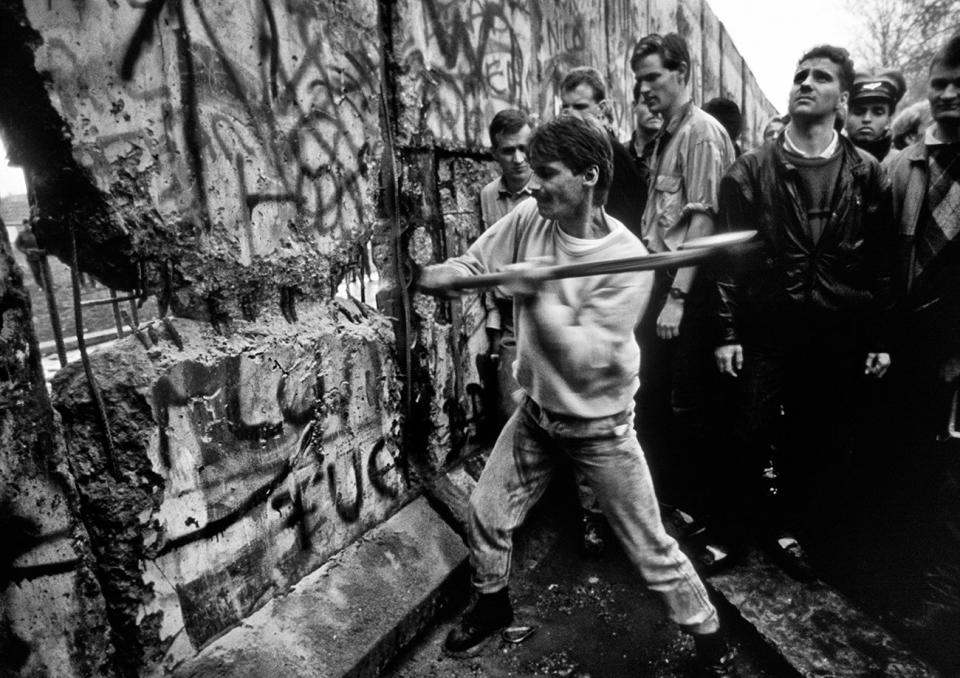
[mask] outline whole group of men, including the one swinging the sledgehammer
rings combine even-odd
[[[607,525],[693,634],[704,673],[735,675],[697,572],[757,543],[817,577],[848,536],[836,516],[851,478],[872,464],[857,500],[923,518],[921,604],[903,630],[960,668],[960,35],[930,64],[929,126],[911,113],[892,133],[902,76],[857,73],[821,45],[798,62],[788,115],[743,154],[736,106],[692,101],[680,36],[642,38],[630,65],[625,144],[592,68],[566,76],[555,120],[495,116],[487,230],[420,279],[444,294],[458,277],[513,276],[485,294],[483,372],[506,424],[471,499],[477,601],[448,650],[512,621],[512,532],[566,457],[585,547],[602,549]],[[576,283],[539,273],[543,258],[675,252],[744,230],[753,246],[723,265]],[[878,471],[894,462],[909,468]]]

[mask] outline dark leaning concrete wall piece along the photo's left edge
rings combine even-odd
[[[30,298],[0,228],[0,673],[112,673],[110,624]]]

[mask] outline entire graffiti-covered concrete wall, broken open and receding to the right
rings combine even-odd
[[[91,357],[95,390],[65,368],[55,410],[9,372],[35,394],[10,435],[49,422],[63,461],[4,473],[43,478],[57,512],[25,494],[22,517],[70,535],[17,566],[73,563],[50,580],[71,595],[7,586],[15,674],[164,672],[482,437],[482,308],[412,294],[415,266],[478,235],[497,110],[547,119],[589,64],[626,137],[651,30],[687,37],[694,97],[728,94],[754,138],[769,103],[702,0],[0,8],[0,131],[41,245],[168,316]]]

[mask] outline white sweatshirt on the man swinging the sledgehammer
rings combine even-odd
[[[606,236],[573,238],[555,221],[541,217],[536,201],[528,200],[484,231],[466,254],[443,265],[472,275],[533,257],[572,264],[647,253],[621,222],[606,213],[604,218],[610,227]],[[640,384],[640,347],[634,326],[646,308],[652,285],[649,271],[548,281],[544,289],[569,307],[572,318],[569,325],[549,332],[535,327],[537,319],[529,305],[515,304],[513,373],[527,395],[552,412],[589,419],[630,406]]]

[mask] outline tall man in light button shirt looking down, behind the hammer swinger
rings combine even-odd
[[[720,177],[735,157],[726,130],[691,99],[690,64],[687,45],[676,33],[642,38],[630,60],[641,98],[663,117],[646,158],[642,233],[654,253],[713,233]],[[638,330],[644,354],[638,431],[657,492],[701,520],[716,508],[715,463],[721,457],[709,425],[718,386],[707,327],[709,298],[710,286],[695,267],[657,271]],[[716,566],[722,555],[718,548],[702,549],[697,560]]]

